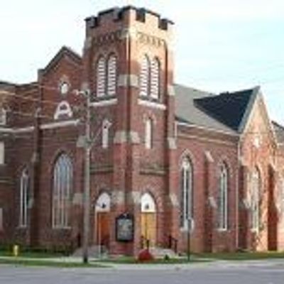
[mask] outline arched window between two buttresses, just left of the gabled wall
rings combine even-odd
[[[218,228],[228,229],[228,184],[229,173],[224,163],[219,168],[219,188],[217,197]]]

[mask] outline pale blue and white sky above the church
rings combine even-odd
[[[82,53],[84,18],[146,7],[175,22],[175,82],[209,92],[261,86],[284,124],[283,0],[0,0],[0,80],[37,79],[62,45]],[[282,109],[283,108],[283,109]]]

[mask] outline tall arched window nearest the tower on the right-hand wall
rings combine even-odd
[[[193,169],[189,158],[182,160],[180,170],[180,226],[187,228],[193,216]]]

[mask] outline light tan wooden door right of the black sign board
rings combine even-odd
[[[155,246],[156,241],[156,214],[155,212],[141,213],[141,236],[144,240],[143,246],[146,247],[146,240],[150,246]]]

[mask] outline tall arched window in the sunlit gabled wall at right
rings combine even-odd
[[[251,176],[251,229],[259,230],[260,225],[260,194],[261,194],[261,175],[259,170],[253,171]]]

